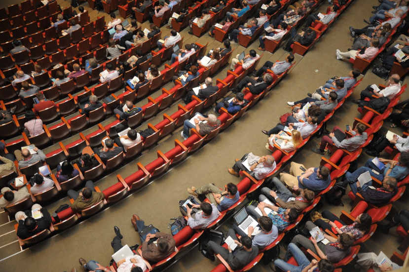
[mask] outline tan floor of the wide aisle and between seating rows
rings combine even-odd
[[[15,0],[3,0],[0,5],[6,5],[8,2],[15,2]],[[58,2],[63,8],[70,4],[68,0],[58,0]],[[234,158],[241,157],[244,153],[253,152],[259,155],[268,153],[264,149],[266,137],[260,133],[260,130],[269,129],[276,124],[278,117],[288,111],[287,101],[305,97],[307,92],[312,92],[318,86],[325,83],[328,78],[348,74],[348,71],[351,70],[351,65],[347,62],[336,60],[335,49],[346,50],[350,47],[352,41],[349,36],[348,26],[353,25],[357,28],[365,26],[362,18],[368,18],[371,15],[371,7],[376,2],[375,0],[355,0],[304,57],[296,55],[297,64],[294,69],[264,99],[224,130],[218,137],[194,154],[188,156],[185,161],[171,168],[165,175],[155,179],[154,182],[139,192],[129,195],[115,205],[75,225],[69,230],[54,235],[23,251],[20,251],[18,243],[15,242],[15,233],[10,232],[13,230],[15,221],[7,223],[5,214],[1,213],[0,235],[6,233],[0,236],[1,245],[8,244],[0,247],[1,271],[19,272],[23,268],[31,271],[68,271],[73,267],[76,267],[77,271],[81,271],[77,262],[79,257],[87,260],[97,260],[103,265],[108,265],[112,255],[110,242],[113,237],[112,228],[114,225],[118,226],[124,235],[123,244],[140,244],[139,237],[130,223],[130,217],[133,213],[138,214],[148,224],[153,224],[162,232],[169,233],[169,230],[167,230],[169,218],[179,215],[178,200],[186,198],[187,187],[197,187],[209,182],[220,186],[228,182],[237,183],[239,179],[229,175],[226,171],[227,168],[231,166]],[[83,6],[89,9],[87,3],[83,3]],[[327,4],[323,3],[320,11],[326,8]],[[95,10],[89,10],[89,12],[91,20],[95,20],[96,16],[105,15],[107,17],[106,21],[109,21],[109,16],[106,13],[98,13]],[[144,23],[143,28],[147,25],[147,22]],[[208,49],[219,47],[221,44],[207,34],[197,38],[187,34],[187,31],[188,29],[185,29],[181,32],[184,42],[208,43]],[[162,37],[168,34],[169,29],[162,27]],[[238,44],[233,44],[233,55],[243,50],[248,52],[250,49],[257,49],[257,47],[258,42],[254,42],[247,49]],[[264,52],[259,67],[267,60],[273,62],[283,60],[286,55],[287,52],[281,48],[274,54]],[[225,67],[214,78],[223,79],[227,69],[228,67]],[[315,72],[315,70],[318,70],[318,72]],[[328,122],[328,129],[335,125],[341,127],[345,124],[352,125],[353,118],[359,117],[360,114],[357,112],[357,106],[350,101],[359,98],[359,92],[372,83],[384,83],[384,80],[376,77],[371,71],[367,72],[361,85],[356,89],[356,92],[349,101]],[[406,80],[404,83],[406,83]],[[173,83],[168,83],[165,85],[165,88],[169,89],[172,86]],[[160,94],[161,92],[158,91],[151,94],[151,97],[157,97]],[[402,100],[407,98],[408,93],[403,94]],[[138,104],[142,105],[146,102],[147,99],[143,99]],[[149,119],[149,122],[155,124],[162,119],[163,113],[175,112],[178,103],[182,102],[174,103],[173,106],[157,114],[156,117]],[[112,119],[107,118],[104,123],[110,121]],[[147,123],[141,124],[140,128],[145,129]],[[384,128],[388,129],[388,127],[389,123],[385,122]],[[94,129],[91,128],[90,130]],[[174,139],[180,139],[180,130],[179,128],[173,134],[162,139],[156,146],[143,152],[140,157],[117,169],[112,174],[105,176],[97,182],[97,185],[101,189],[105,189],[116,182],[116,174],[126,177],[137,171],[137,162],[145,165],[155,159],[156,150],[163,152],[170,150],[174,146]],[[86,134],[86,131],[84,134]],[[63,143],[72,142],[76,139],[75,137],[73,136],[63,141]],[[312,153],[310,150],[318,141],[319,139],[313,138],[303,147],[301,152],[294,156],[293,160],[304,163],[306,167],[317,166],[320,156]],[[45,151],[53,149],[53,147],[50,147]],[[361,155],[358,159],[359,165],[362,165],[367,158],[365,154]],[[400,210],[403,207],[408,207],[407,199],[407,194],[405,194],[399,201],[394,203],[394,208]],[[349,211],[349,201],[347,198],[344,200],[344,207],[335,207],[322,202],[322,209],[330,209],[335,214],[339,214],[342,209]],[[54,211],[62,203],[68,203],[68,198],[65,197],[55,201],[47,205],[47,208],[50,211]],[[377,253],[382,250],[387,256],[390,256],[396,250],[398,242],[399,237],[394,230],[389,235],[378,231],[363,244],[362,251],[371,250]],[[285,248],[286,245],[281,247]],[[212,270],[217,265],[217,263],[212,263],[201,256],[196,248],[190,251],[187,256],[179,260],[168,271],[206,272]],[[270,271],[270,269],[268,266],[264,267],[259,264],[252,271],[264,272]]]

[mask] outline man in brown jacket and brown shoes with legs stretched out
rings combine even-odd
[[[162,261],[175,251],[176,243],[171,234],[160,232],[154,234],[147,233],[147,231],[144,231],[147,228],[145,222],[136,214],[132,216],[131,222],[142,241],[142,257],[149,262],[156,263]],[[149,240],[153,238],[157,238],[155,243],[149,243]]]

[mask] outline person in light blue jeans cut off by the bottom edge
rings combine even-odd
[[[304,252],[299,249],[295,243],[290,243],[288,245],[287,252],[289,256],[292,255],[294,257],[297,262],[297,266],[277,258],[274,260],[275,268],[279,268],[282,271],[334,272],[334,266],[326,259],[321,259],[320,261],[313,259],[310,262],[305,256]]]

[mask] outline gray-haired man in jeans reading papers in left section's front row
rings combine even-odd
[[[196,113],[195,117],[191,118],[190,120],[185,120],[181,136],[184,140],[186,140],[190,135],[191,128],[195,128],[201,136],[205,136],[212,130],[219,127],[221,124],[222,122],[213,114],[210,114],[206,118],[200,113]]]

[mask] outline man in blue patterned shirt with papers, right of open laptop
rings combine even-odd
[[[295,208],[284,209],[276,205],[270,205],[263,202],[266,197],[262,194],[259,196],[260,203],[257,205],[257,208],[260,209],[260,213],[256,210],[256,206],[248,205],[246,210],[254,218],[259,220],[261,216],[268,216],[273,221],[273,225],[277,227],[278,232],[283,232],[290,224],[294,223],[297,220],[298,213]],[[272,211],[268,214],[264,211],[264,208],[269,208]]]

